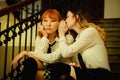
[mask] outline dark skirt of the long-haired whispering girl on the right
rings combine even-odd
[[[103,68],[80,69],[74,67],[77,80],[113,80],[112,73]]]

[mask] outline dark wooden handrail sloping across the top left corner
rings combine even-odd
[[[3,9],[0,10],[0,17],[4,16],[4,15],[10,13],[10,12],[13,12],[13,11],[15,11],[17,9],[20,9],[20,8],[22,8],[22,7],[24,7],[24,6],[28,5],[28,4],[36,2],[36,1],[38,1],[38,0],[24,0],[24,1],[21,1],[21,2],[18,2],[18,3],[15,3],[15,4],[11,5],[11,6],[8,6],[6,8],[3,8]]]

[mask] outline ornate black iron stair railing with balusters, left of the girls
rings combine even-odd
[[[31,30],[30,30],[30,35],[32,35],[32,33],[33,33],[33,26],[36,24],[36,35],[37,35],[37,23],[39,22],[39,21],[37,21],[38,20],[38,15],[39,14],[35,14],[35,12],[34,12],[34,3],[32,4],[33,5],[33,8],[32,8],[32,14],[30,15],[30,16],[28,16],[28,13],[26,14],[27,16],[26,16],[26,18],[24,18],[23,19],[23,13],[22,13],[22,8],[20,9],[20,17],[19,17],[19,22],[18,23],[16,23],[16,18],[15,18],[15,16],[14,16],[14,25],[12,25],[12,26],[10,26],[9,25],[9,23],[10,23],[10,13],[9,12],[7,12],[7,26],[6,26],[6,29],[5,30],[2,30],[1,31],[1,23],[0,23],[0,46],[2,46],[3,44],[5,45],[5,50],[4,50],[4,68],[3,68],[3,76],[2,76],[2,78],[3,79],[0,79],[0,80],[8,80],[8,79],[10,79],[10,80],[18,80],[18,79],[20,79],[20,78],[18,78],[18,76],[20,76],[20,73],[21,73],[21,70],[20,70],[20,67],[21,67],[21,63],[19,63],[19,65],[17,66],[17,68],[16,69],[13,69],[13,66],[11,66],[11,67],[9,67],[10,68],[10,73],[7,73],[7,66],[9,66],[9,65],[7,65],[8,64],[8,53],[10,53],[10,56],[11,56],[11,60],[13,60],[13,58],[14,58],[14,55],[15,55],[15,42],[16,41],[18,41],[19,43],[18,43],[18,52],[17,53],[20,53],[21,52],[21,39],[22,39],[22,33],[24,32],[24,30],[25,30],[25,41],[26,41],[26,43],[25,43],[25,50],[27,50],[27,35],[28,35],[28,29],[30,28]],[[11,8],[12,9],[12,8]],[[38,8],[37,8],[38,9]],[[16,10],[16,9],[15,9]],[[27,9],[28,10],[28,9]],[[14,10],[12,10],[13,12],[14,12]],[[1,15],[0,15],[1,16]],[[28,18],[29,17],[29,18]],[[34,20],[34,18],[36,19],[36,22],[33,22],[33,20]],[[27,21],[27,19],[28,19],[28,21]],[[28,23],[29,22],[29,23]],[[23,26],[23,24],[25,24],[25,29],[23,29],[24,28],[24,26]],[[19,35],[18,36],[18,40],[16,40],[16,37],[17,37],[17,35]],[[30,50],[32,50],[32,36],[30,36],[29,37],[30,38]],[[9,52],[8,50],[10,49],[8,46],[9,46],[9,41],[11,41],[10,43],[12,43],[12,45],[10,45],[11,47],[12,47],[12,51],[11,52]],[[17,71],[17,76],[16,76],[16,74],[14,74],[14,73],[16,73],[15,71]],[[16,78],[16,77],[17,78]]]

